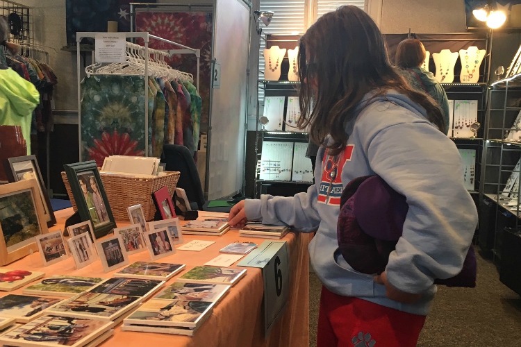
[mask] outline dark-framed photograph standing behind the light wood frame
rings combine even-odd
[[[38,192],[40,193],[40,199],[44,207],[44,217],[47,221],[47,226],[53,226],[56,224],[56,217],[49,200],[49,194],[45,189],[44,180],[40,167],[38,166],[38,160],[35,155],[24,155],[23,157],[8,158],[9,169],[6,170],[10,182],[18,182],[20,180],[31,180],[34,178],[38,185]]]

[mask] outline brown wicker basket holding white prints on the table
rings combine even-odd
[[[115,176],[107,175],[103,172],[100,172],[99,175],[107,194],[108,203],[110,203],[110,209],[117,221],[129,221],[129,214],[126,212],[126,208],[138,205],[138,203],[143,208],[144,218],[147,221],[151,221],[154,219],[154,214],[156,214],[156,206],[151,194],[161,187],[167,186],[168,192],[170,195],[173,195],[180,173],[179,171],[165,171],[165,174],[154,178]],[[65,183],[72,208],[74,211],[77,211],[76,201],[74,201],[74,196],[72,196],[71,186],[65,171],[62,171],[62,180]]]

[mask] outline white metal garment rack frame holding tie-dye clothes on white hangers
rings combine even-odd
[[[79,141],[79,146],[78,146],[78,152],[79,152],[79,158],[80,160],[83,160],[83,158],[81,158],[81,88],[80,88],[80,82],[81,82],[81,73],[80,73],[80,53],[81,53],[81,49],[80,49],[80,42],[83,38],[95,38],[97,35],[99,34],[106,34],[106,33],[96,33],[96,32],[78,32],[76,33],[76,74],[77,74],[77,80],[78,80],[78,141]],[[119,33],[119,34],[122,34],[122,33]],[[149,76],[149,42],[150,42],[150,39],[154,39],[154,40],[159,40],[159,41],[163,41],[163,42],[166,42],[166,43],[169,43],[169,44],[173,44],[175,46],[179,46],[181,47],[182,49],[176,49],[176,50],[172,50],[174,51],[174,53],[180,53],[180,54],[183,54],[183,53],[190,53],[190,54],[195,54],[196,58],[197,58],[197,77],[196,77],[196,87],[197,89],[199,89],[199,60],[201,58],[201,51],[199,49],[193,49],[191,47],[188,47],[188,46],[184,46],[183,44],[179,44],[177,42],[174,42],[174,41],[170,41],[170,40],[166,40],[166,39],[163,39],[163,37],[158,37],[156,35],[151,35],[147,32],[144,32],[144,33],[123,33],[125,34],[125,37],[126,39],[132,39],[132,38],[141,38],[143,41],[144,41],[144,77],[143,80],[144,80],[144,128],[145,128],[145,132],[144,132],[144,155],[145,156],[148,156],[149,155],[149,132],[147,131],[147,129],[149,128],[149,108],[147,107],[147,105],[149,104],[149,94],[147,92],[147,87],[148,87],[148,76]],[[93,58],[92,58],[92,62],[94,63],[94,55],[93,55]]]

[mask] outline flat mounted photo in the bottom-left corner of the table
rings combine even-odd
[[[94,319],[45,315],[1,335],[0,342],[4,346],[86,346],[104,336],[112,325]]]

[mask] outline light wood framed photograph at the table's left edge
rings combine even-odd
[[[0,265],[38,251],[37,235],[47,234],[36,180],[0,185]]]

